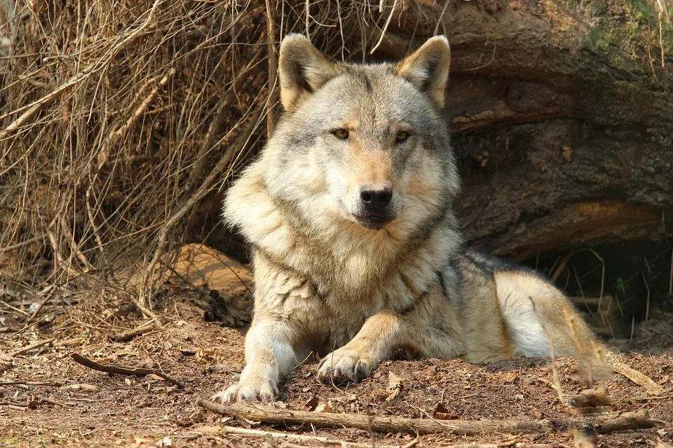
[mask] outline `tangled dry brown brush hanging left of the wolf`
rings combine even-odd
[[[217,214],[212,204],[273,126],[277,93],[268,91],[277,91],[281,36],[308,34],[337,59],[362,60],[391,22],[419,8],[405,0],[3,5],[1,283],[114,288],[140,307],[151,307],[156,272],[175,248],[222,231],[202,215]],[[439,19],[428,18],[426,34]],[[137,287],[122,281],[129,270],[142,277]]]

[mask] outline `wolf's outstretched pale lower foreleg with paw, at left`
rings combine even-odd
[[[253,323],[245,336],[245,368],[238,384],[212,398],[222,402],[273,400],[278,381],[297,363],[293,338],[287,323],[271,318]]]

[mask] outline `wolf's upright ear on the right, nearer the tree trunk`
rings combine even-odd
[[[398,63],[396,72],[416,85],[421,92],[426,92],[437,108],[442,109],[450,62],[449,41],[444,36],[435,36]]]

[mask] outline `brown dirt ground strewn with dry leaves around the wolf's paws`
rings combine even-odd
[[[150,330],[128,342],[111,342],[109,337],[142,324],[140,319],[130,316],[121,319],[118,314],[113,317],[103,312],[84,321],[81,316],[91,316],[95,310],[87,310],[83,305],[79,314],[49,307],[36,319],[47,316],[45,321],[20,334],[15,333],[25,328],[22,323],[25,316],[19,311],[4,314],[4,328],[0,328],[0,446],[292,446],[269,437],[226,434],[221,426],[282,430],[372,446],[404,446],[414,440],[412,435],[373,434],[346,428],[274,428],[201,409],[196,405],[198,398],[208,398],[236,381],[243,367],[244,330],[205,322],[203,308],[195,304],[197,299],[174,295],[171,306],[165,307],[162,314],[163,328]],[[119,324],[121,321],[125,328]],[[48,344],[16,354],[31,344],[52,338]],[[72,360],[73,352],[100,363],[160,368],[183,381],[184,389],[153,374],[137,378],[90,370]],[[646,388],[620,374],[598,385],[608,389],[616,410],[646,408],[660,423],[652,429],[601,435],[597,446],[647,448],[654,447],[658,440],[673,442],[673,362],[669,355],[620,355],[665,392],[651,395]],[[574,377],[573,360],[562,358],[557,364],[565,397],[586,387]],[[390,393],[390,374],[400,377],[404,393],[381,411],[387,415],[433,418],[437,405],[442,404],[445,408],[441,412],[452,419],[573,417],[573,410],[559,403],[557,393],[550,387],[549,360],[532,358],[487,365],[471,365],[462,360],[387,361],[381,363],[374,377],[346,388],[320,384],[315,377],[315,363],[308,363],[292,371],[282,387],[282,402],[278,406],[318,412],[379,412]],[[8,381],[42,384],[6,384]],[[573,446],[572,435],[568,433],[423,435],[416,446],[477,441],[499,446],[519,443]],[[308,446],[311,442],[301,444]]]

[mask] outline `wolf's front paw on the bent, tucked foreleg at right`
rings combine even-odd
[[[323,383],[357,383],[369,377],[379,366],[379,360],[365,353],[341,347],[322,358],[318,364],[318,379]]]

